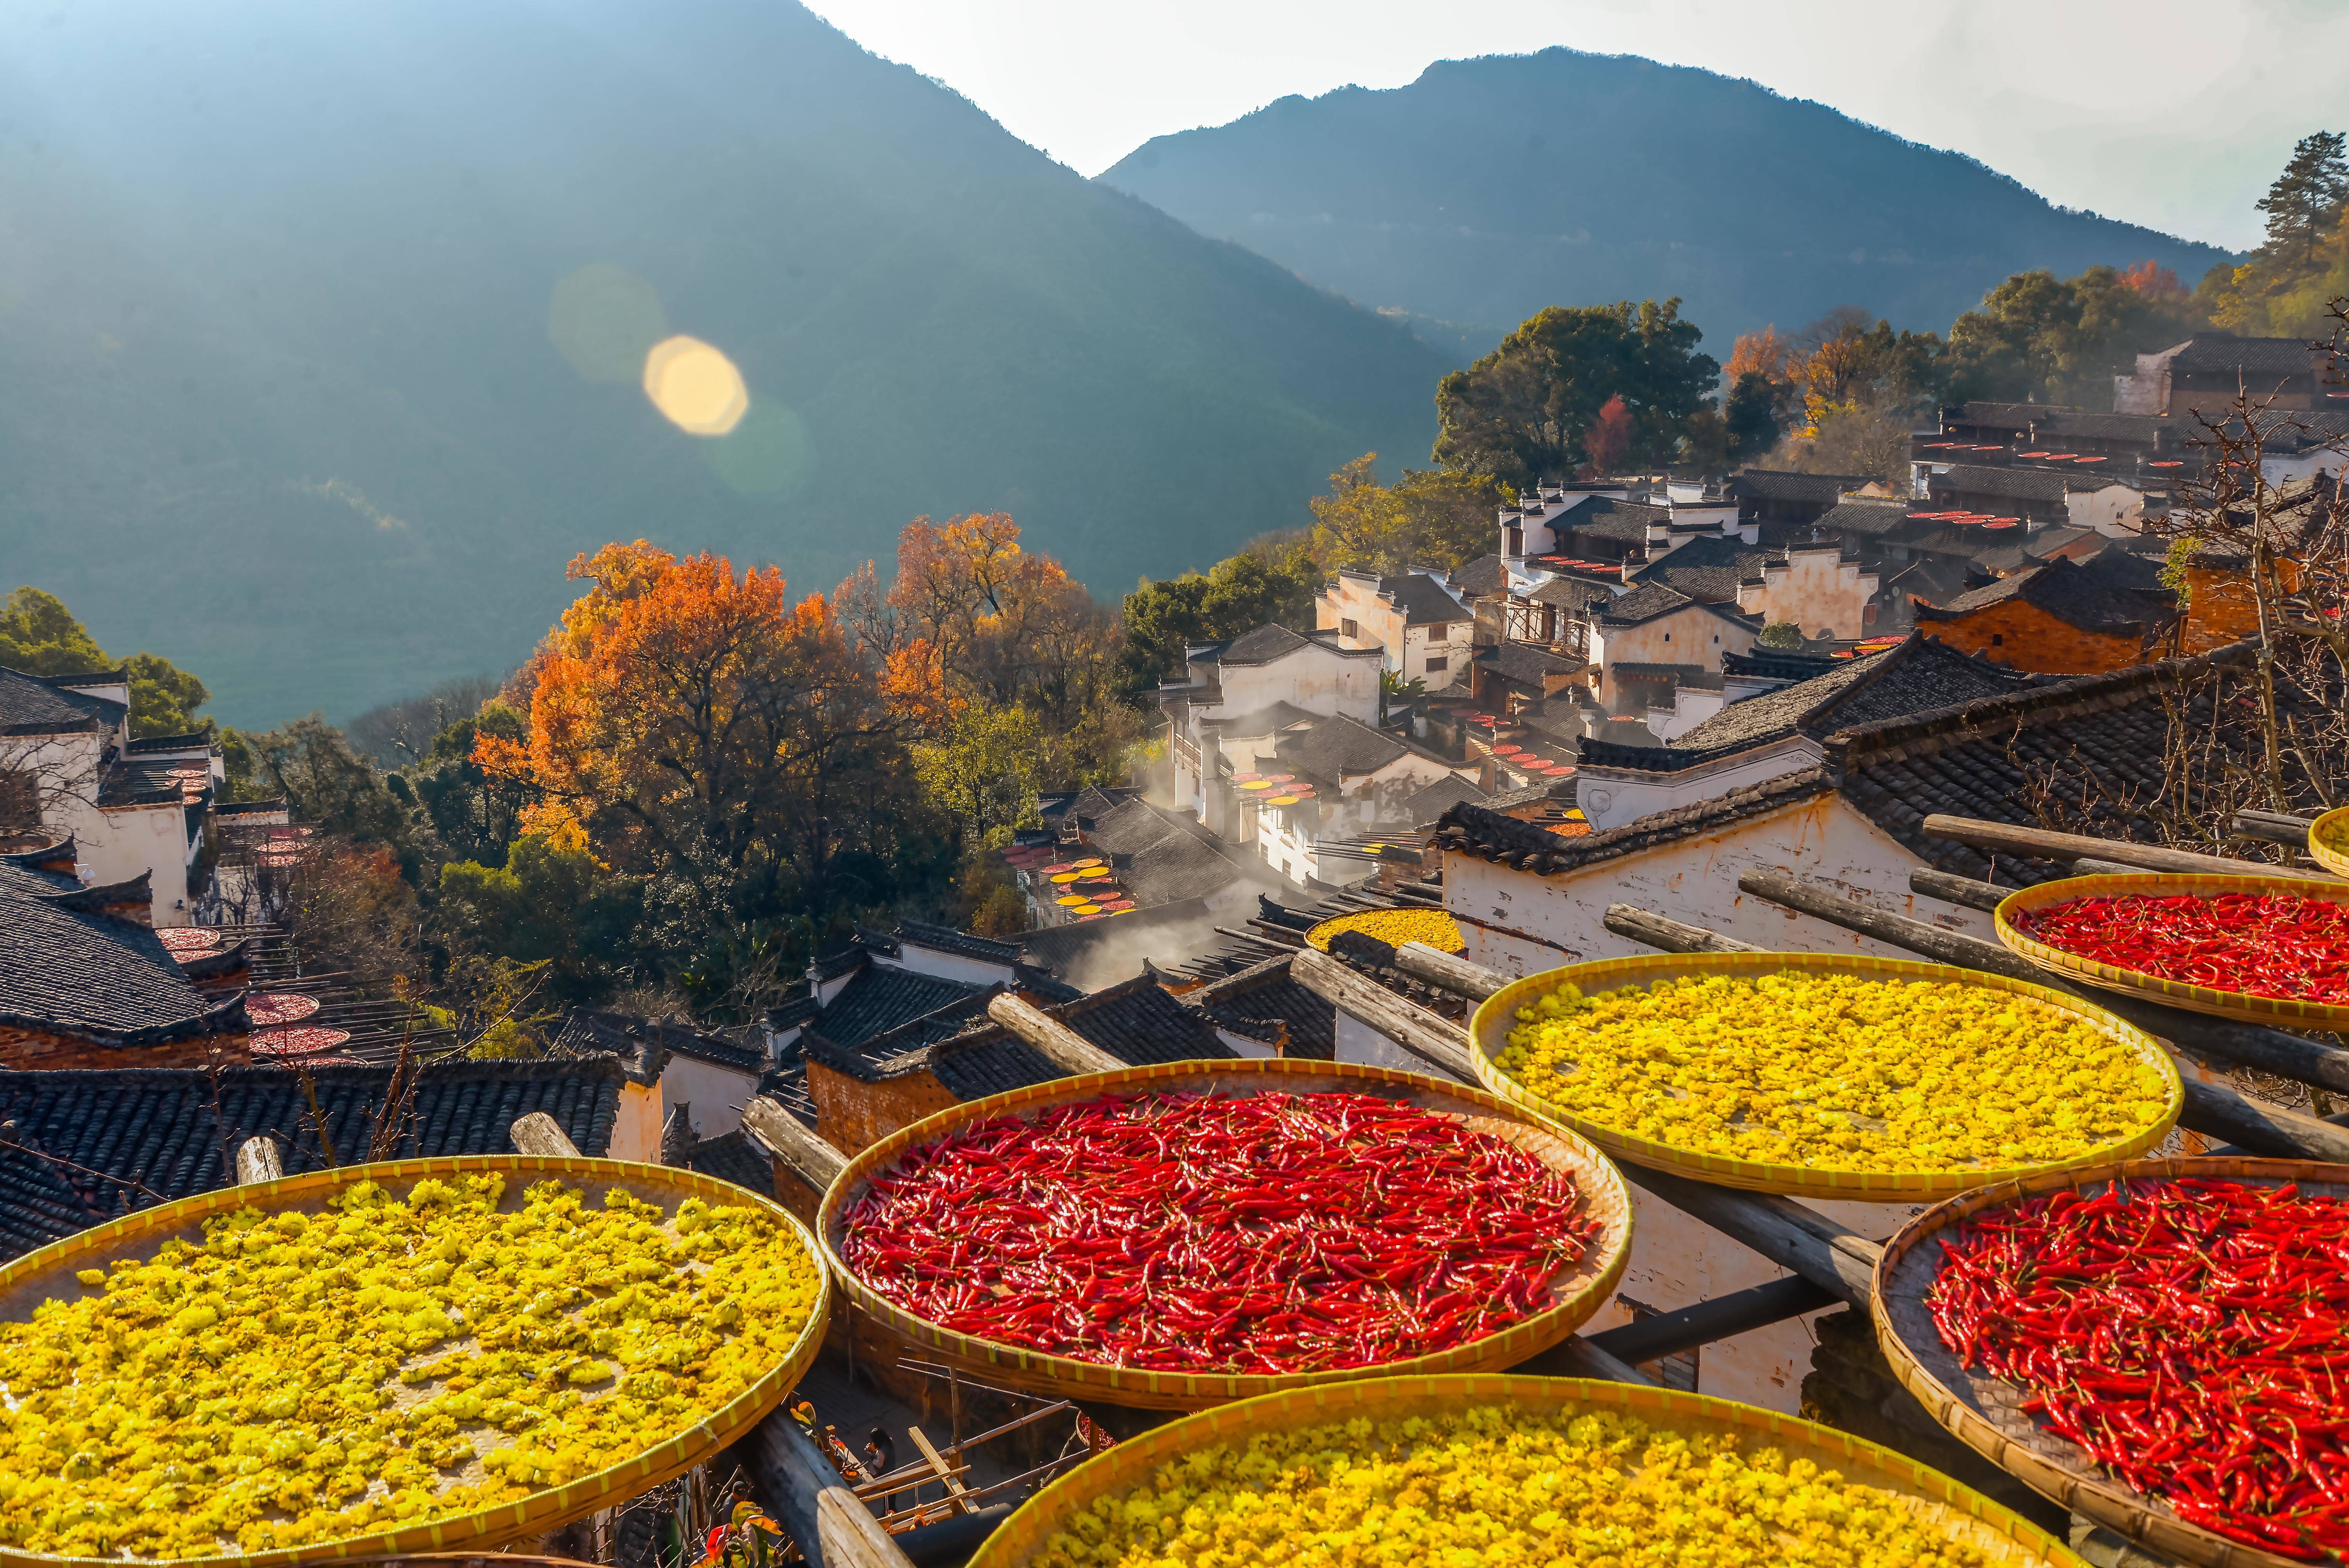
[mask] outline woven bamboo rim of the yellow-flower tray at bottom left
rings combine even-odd
[[[677,1167],[634,1164],[630,1160],[590,1160],[585,1155],[571,1160],[540,1155],[385,1160],[378,1164],[348,1164],[334,1171],[308,1171],[303,1176],[284,1176],[280,1181],[244,1188],[216,1188],[171,1204],[127,1214],[117,1221],[70,1235],[63,1242],[52,1242],[49,1246],[31,1251],[7,1268],[0,1268],[0,1319],[21,1322],[40,1300],[61,1293],[63,1282],[73,1279],[75,1270],[89,1268],[94,1258],[120,1258],[127,1249],[155,1246],[171,1235],[193,1239],[202,1232],[202,1221],[214,1214],[244,1207],[263,1209],[268,1214],[282,1214],[287,1209],[315,1214],[327,1207],[327,1199],[338,1188],[355,1181],[376,1181],[390,1188],[423,1181],[425,1176],[474,1176],[484,1171],[505,1174],[510,1178],[507,1192],[517,1199],[519,1188],[526,1181],[566,1176],[578,1183],[627,1188],[639,1199],[660,1202],[665,1209],[674,1209],[688,1197],[759,1209],[768,1221],[782,1225],[810,1258],[817,1258],[815,1239],[808,1235],[808,1228],[792,1218],[792,1211],[775,1199],[752,1192],[749,1188],[738,1188],[731,1181],[700,1176]],[[792,1340],[785,1357],[747,1390],[712,1411],[712,1415],[698,1427],[688,1427],[665,1444],[655,1444],[634,1458],[580,1476],[568,1486],[536,1491],[491,1509],[458,1514],[456,1519],[442,1519],[435,1523],[350,1535],[345,1540],[284,1547],[277,1552],[235,1554],[228,1561],[235,1561],[237,1568],[275,1568],[280,1563],[324,1563],[364,1556],[406,1556],[418,1552],[489,1552],[500,1545],[559,1530],[561,1526],[585,1519],[597,1509],[611,1507],[625,1498],[634,1498],[641,1491],[660,1486],[662,1481],[681,1476],[719,1448],[747,1437],[752,1427],[766,1420],[766,1415],[782,1404],[782,1397],[815,1361],[815,1352],[824,1343],[824,1319],[832,1307],[832,1284],[822,1277],[822,1270],[817,1270],[817,1275],[815,1312],[808,1314],[808,1322],[801,1326],[799,1338]],[[223,1559],[59,1556],[0,1547],[0,1563],[28,1563],[40,1568],[122,1568],[127,1561],[211,1563]]]

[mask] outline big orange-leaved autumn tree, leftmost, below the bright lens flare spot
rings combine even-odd
[[[879,671],[820,596],[644,540],[571,561],[590,587],[529,674],[529,739],[474,761],[540,791],[526,826],[585,833],[684,920],[787,911],[822,927],[886,899],[874,864],[909,796]]]

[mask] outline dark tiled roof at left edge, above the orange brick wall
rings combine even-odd
[[[244,1033],[244,1002],[188,984],[162,939],[94,908],[70,878],[0,864],[0,1023],[94,1045]]]

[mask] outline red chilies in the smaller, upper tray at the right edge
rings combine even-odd
[[[2295,892],[2074,899],[2015,930],[2077,958],[2210,991],[2349,1002],[2349,901]]]

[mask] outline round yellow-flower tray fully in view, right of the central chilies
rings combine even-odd
[[[1478,1077],[1609,1155],[1750,1192],[1917,1202],[2161,1143],[2161,1045],[2062,991],[1858,953],[1656,953],[1492,993]]]

